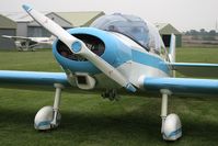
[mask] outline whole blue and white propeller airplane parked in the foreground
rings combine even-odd
[[[0,71],[0,87],[55,86],[53,106],[42,108],[35,115],[36,130],[57,127],[64,88],[73,90],[105,89],[102,97],[116,99],[116,90],[153,92],[162,96],[161,134],[165,141],[182,136],[176,114],[168,115],[169,96],[218,94],[218,80],[175,78],[175,70],[187,76],[218,76],[218,64],[175,63],[175,36],[169,53],[158,30],[134,15],[112,14],[97,19],[91,27],[65,31],[28,5],[24,10],[54,34],[53,54],[65,72]]]

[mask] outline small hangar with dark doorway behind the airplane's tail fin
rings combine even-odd
[[[170,38],[172,33],[176,37],[176,47],[182,46],[182,33],[177,31],[174,26],[172,26],[170,23],[154,23],[154,25],[158,27],[159,33],[161,34],[163,43],[167,47],[170,46]]]

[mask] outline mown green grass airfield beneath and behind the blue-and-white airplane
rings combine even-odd
[[[179,61],[218,63],[216,48],[179,48]],[[0,70],[60,71],[49,49],[0,52]],[[37,132],[35,113],[51,105],[54,91],[0,88],[0,146],[217,146],[218,99],[171,97],[169,112],[177,113],[183,137],[174,143],[160,134],[160,97],[121,96],[103,100],[84,91],[64,92],[58,130]]]

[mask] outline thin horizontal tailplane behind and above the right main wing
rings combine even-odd
[[[218,78],[218,64],[169,63],[173,70],[187,77]]]

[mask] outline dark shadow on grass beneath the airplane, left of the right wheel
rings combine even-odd
[[[12,111],[1,109],[0,127],[10,126],[16,131],[19,128],[33,128],[35,113],[31,111]],[[87,113],[61,113],[61,125],[51,134],[74,135],[76,137],[96,137],[96,138],[139,138],[145,137],[153,141],[162,141],[160,135],[160,119],[149,119],[146,114],[87,114]],[[69,136],[67,136],[69,137]],[[59,137],[60,138],[60,137]],[[64,138],[64,137],[62,137]]]

